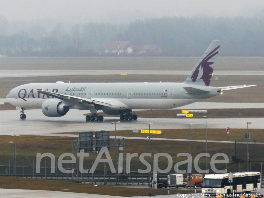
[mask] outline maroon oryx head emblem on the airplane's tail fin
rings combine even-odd
[[[218,50],[218,48],[220,47],[220,45],[215,48],[213,51],[211,51],[198,65],[198,67],[196,67],[195,71],[192,74],[192,82],[195,82],[198,78],[202,79],[204,81],[204,84],[206,86],[209,86],[210,81],[211,81],[211,77],[212,77],[212,73],[213,73],[213,69],[210,67],[210,65],[212,65],[214,62],[208,62],[212,57],[214,57],[216,54],[218,54],[218,51],[216,52],[216,50]]]

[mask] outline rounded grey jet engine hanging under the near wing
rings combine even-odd
[[[48,117],[65,116],[69,109],[70,108],[64,106],[59,99],[46,100],[41,106],[42,113]]]

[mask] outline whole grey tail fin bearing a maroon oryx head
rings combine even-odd
[[[220,41],[214,40],[184,83],[209,86],[219,47]]]

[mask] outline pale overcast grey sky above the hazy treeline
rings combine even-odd
[[[264,0],[0,0],[7,20],[128,23],[162,16],[264,15]]]

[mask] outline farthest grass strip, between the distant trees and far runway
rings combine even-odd
[[[202,56],[202,54],[201,54]],[[200,57],[1,57],[2,70],[192,70]],[[218,57],[216,70],[263,71],[264,57]]]

